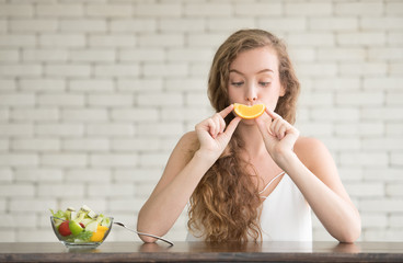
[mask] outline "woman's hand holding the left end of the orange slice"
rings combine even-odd
[[[216,161],[230,141],[241,118],[233,118],[226,128],[224,117],[231,113],[233,104],[196,125],[196,134],[200,144],[199,151]]]

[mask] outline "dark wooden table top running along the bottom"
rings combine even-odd
[[[69,250],[58,242],[0,243],[0,262],[403,262],[403,242],[104,242]]]

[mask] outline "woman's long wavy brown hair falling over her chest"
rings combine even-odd
[[[241,30],[232,34],[217,50],[208,81],[208,98],[220,112],[230,104],[228,81],[230,65],[240,53],[269,47],[276,52],[280,83],[285,95],[280,96],[275,112],[293,124],[300,84],[289,59],[285,43],[262,30]],[[233,114],[226,118],[228,124]],[[262,199],[253,178],[253,165],[240,157],[244,142],[233,134],[228,147],[204,175],[191,197],[188,228],[206,241],[247,241],[262,237],[260,206]]]

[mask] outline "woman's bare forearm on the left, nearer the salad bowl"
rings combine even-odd
[[[212,165],[206,155],[196,151],[191,161],[164,188],[153,193],[138,215],[137,229],[165,235],[186,206],[200,179]],[[143,239],[143,241],[152,241]]]

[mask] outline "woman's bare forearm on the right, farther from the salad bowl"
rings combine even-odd
[[[360,217],[354,205],[324,184],[292,152],[280,167],[301,191],[325,229],[341,242],[354,242],[360,235]]]

